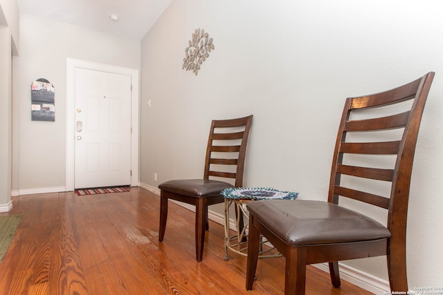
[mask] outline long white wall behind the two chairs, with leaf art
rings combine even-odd
[[[443,286],[440,12],[433,0],[173,1],[142,40],[141,182],[201,177],[210,120],[253,114],[244,185],[326,200],[345,97],[435,71],[410,191],[408,280]],[[215,44],[197,77],[182,70],[196,28]],[[385,261],[346,264],[386,280]]]

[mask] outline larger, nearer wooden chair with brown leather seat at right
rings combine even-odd
[[[408,292],[410,176],[433,77],[428,73],[390,91],[346,99],[327,202],[260,200],[247,205],[246,289],[253,287],[261,233],[286,259],[284,294],[305,294],[306,265],[329,263],[332,285],[339,287],[338,261],[385,255],[390,289]],[[386,209],[386,226],[346,209],[342,198],[338,204],[339,197]]]

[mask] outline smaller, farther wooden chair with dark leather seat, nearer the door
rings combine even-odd
[[[202,179],[170,180],[159,185],[159,242],[165,236],[168,200],[195,205],[195,252],[203,258],[205,230],[209,228],[208,206],[224,202],[221,191],[242,187],[244,158],[253,115],[231,120],[213,120],[210,126],[204,176]],[[210,179],[211,178],[211,179]],[[214,179],[216,178],[216,179]],[[234,179],[233,184],[226,178]]]

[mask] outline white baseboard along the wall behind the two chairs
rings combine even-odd
[[[148,191],[152,191],[153,193],[156,193],[160,196],[160,190],[155,187],[151,187],[150,185],[140,183],[140,187],[143,189],[147,189]],[[171,200],[172,202],[176,202],[174,200]],[[185,207],[186,209],[189,209],[190,211],[195,212],[195,206],[192,206],[190,204],[185,204],[183,202],[176,202],[177,204],[181,205],[182,207]],[[213,220],[214,222],[219,223],[220,225],[224,225],[224,216],[219,213],[215,213],[213,211],[208,211],[208,218],[210,220]],[[235,221],[229,220],[230,229],[235,230]],[[317,267],[320,270],[323,270],[323,272],[327,272],[329,274],[329,267],[327,263],[319,263],[316,265],[313,265],[314,267]],[[366,291],[369,291],[374,294],[386,294],[386,290],[389,290],[389,282],[387,280],[383,280],[381,278],[377,278],[377,276],[372,276],[371,274],[367,274],[365,272],[361,272],[359,269],[355,269],[354,267],[350,267],[347,265],[343,265],[340,263],[340,277],[342,280],[346,280],[349,283],[352,283],[353,285],[356,285],[358,287],[361,287],[362,289],[365,289]]]

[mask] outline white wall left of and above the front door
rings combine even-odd
[[[65,186],[66,58],[140,68],[140,41],[22,14],[19,59],[18,189]],[[30,84],[45,78],[55,87],[55,122],[30,120]]]

